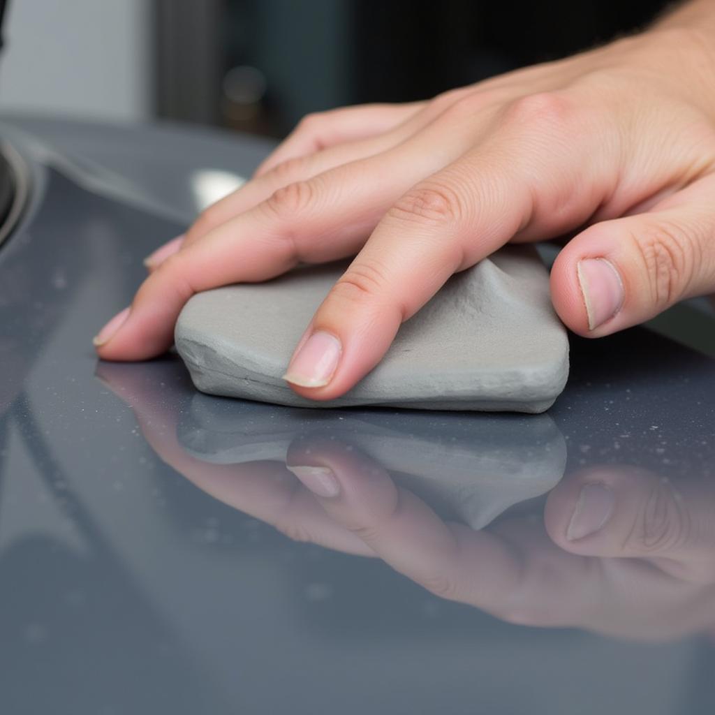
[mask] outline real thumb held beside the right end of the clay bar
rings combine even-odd
[[[650,320],[684,298],[715,292],[715,177],[650,212],[577,235],[551,272],[553,305],[574,332],[601,337]]]

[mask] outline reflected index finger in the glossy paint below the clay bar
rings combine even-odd
[[[430,506],[400,488],[388,472],[351,445],[311,438],[290,446],[288,468],[308,488],[311,470],[335,480],[332,496],[315,490],[337,523],[358,536],[385,563],[443,598],[497,603],[521,578],[521,561],[487,532],[443,521]],[[489,578],[480,578],[480,564]]]

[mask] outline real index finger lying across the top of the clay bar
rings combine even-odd
[[[575,133],[564,140],[568,132],[555,131],[548,114],[533,127],[514,116],[387,212],[299,342],[285,375],[297,393],[344,394],[453,273],[514,237],[548,238],[580,225],[601,204],[605,162],[592,160],[590,176],[581,175],[588,144]]]

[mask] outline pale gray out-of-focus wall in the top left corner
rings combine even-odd
[[[150,0],[10,0],[0,114],[149,117],[151,6]]]

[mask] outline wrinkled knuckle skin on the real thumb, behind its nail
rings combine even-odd
[[[696,246],[678,227],[660,223],[628,236],[635,247],[656,308],[672,305],[686,291],[697,260]]]

